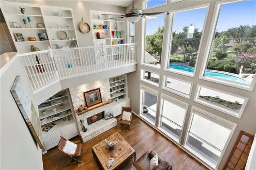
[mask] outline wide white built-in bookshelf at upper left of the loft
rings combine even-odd
[[[25,8],[24,14],[20,11],[20,7]],[[30,45],[34,45],[40,50],[48,49],[48,46],[51,48],[67,47],[71,44],[70,42],[79,46],[72,8],[2,1],[1,9],[19,53],[30,52]],[[62,16],[54,16],[52,12],[61,12]],[[31,19],[32,28],[26,28],[23,23],[23,19],[25,19],[28,24],[27,17]],[[15,28],[13,23],[19,23],[22,28]],[[44,27],[37,28],[37,24],[43,24]],[[59,24],[59,28],[57,24]],[[59,31],[64,31],[67,38],[60,40],[57,36]],[[40,41],[38,33],[45,33],[47,40]],[[22,34],[24,42],[17,42],[14,34]],[[35,37],[36,41],[29,41],[28,37]]]

